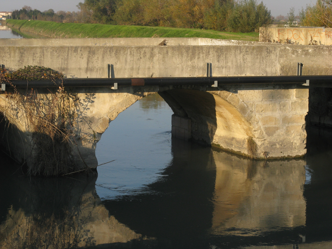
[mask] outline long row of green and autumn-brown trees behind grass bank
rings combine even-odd
[[[78,12],[55,13],[24,6],[13,18],[243,33],[258,32],[273,21],[270,10],[257,0],[84,0],[77,7]]]

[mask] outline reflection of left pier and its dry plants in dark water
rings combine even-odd
[[[96,174],[9,176],[1,177],[7,193],[1,193],[0,248],[80,248],[140,238],[109,215],[96,194]]]

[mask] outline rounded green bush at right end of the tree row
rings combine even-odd
[[[271,11],[256,0],[243,0],[235,4],[234,11],[227,20],[229,31],[259,32],[259,28],[271,24]]]

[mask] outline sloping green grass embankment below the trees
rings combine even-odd
[[[258,33],[231,33],[214,30],[180,29],[169,27],[125,26],[91,23],[58,23],[35,20],[7,20],[7,25],[20,33],[29,32],[50,38],[105,37],[204,37],[258,41]]]

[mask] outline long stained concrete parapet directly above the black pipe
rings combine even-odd
[[[68,77],[116,78],[332,74],[332,50],[302,45],[210,46],[0,46],[1,61],[17,70],[27,65],[50,67]]]

